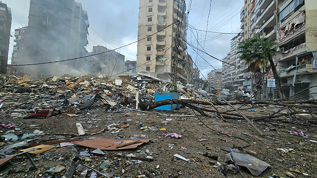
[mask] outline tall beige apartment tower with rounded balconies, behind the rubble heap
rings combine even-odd
[[[177,77],[186,83],[186,4],[185,0],[140,0],[137,51],[137,72],[147,73],[163,80],[173,77],[173,50],[178,50]],[[177,25],[179,21],[181,41],[175,47]],[[174,24],[173,24],[174,23]],[[168,25],[173,24],[169,27]],[[164,29],[167,27],[166,29]],[[164,29],[164,30],[162,30]],[[157,33],[158,32],[158,33]],[[157,34],[155,34],[157,33]],[[155,34],[155,35],[153,35]],[[153,35],[153,36],[151,36]],[[171,47],[172,46],[172,47]]]

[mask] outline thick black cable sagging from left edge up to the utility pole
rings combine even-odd
[[[168,26],[166,26],[165,28],[161,29],[160,31],[162,30],[165,30],[166,28],[170,27],[171,25],[173,25],[174,23],[172,24],[169,24]],[[30,65],[40,65],[40,64],[51,64],[51,63],[58,63],[58,62],[65,62],[65,61],[70,61],[70,60],[76,60],[76,59],[82,59],[82,58],[86,58],[86,57],[90,57],[90,56],[95,56],[95,55],[99,55],[99,54],[103,54],[103,53],[107,53],[107,52],[111,52],[111,51],[114,51],[114,50],[117,50],[117,49],[120,49],[122,47],[125,47],[125,46],[128,46],[128,45],[132,45],[134,43],[137,43],[137,42],[140,42],[141,40],[144,40],[144,39],[147,39],[148,37],[152,37],[154,36],[155,34],[159,33],[160,31],[152,34],[152,35],[149,35],[145,38],[142,38],[138,41],[135,41],[135,42],[132,42],[132,43],[129,43],[127,45],[123,45],[123,46],[120,46],[118,48],[115,48],[115,49],[111,49],[111,50],[108,50],[108,51],[105,51],[105,52],[100,52],[100,53],[97,53],[97,54],[91,54],[91,55],[87,55],[87,56],[82,56],[82,57],[75,57],[75,58],[71,58],[71,59],[64,59],[64,60],[60,60],[60,61],[51,61],[51,62],[41,62],[41,63],[34,63],[34,64],[19,64],[19,65],[14,65],[14,66],[30,66]],[[8,67],[8,66],[11,66],[11,65],[6,65],[6,66],[0,66],[0,67]]]

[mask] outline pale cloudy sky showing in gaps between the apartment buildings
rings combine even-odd
[[[90,28],[100,34],[114,47],[126,45],[137,41],[139,0],[76,0],[82,3],[83,9],[87,10]],[[187,7],[189,1],[186,0]],[[26,26],[28,23],[29,0],[2,0],[12,11],[11,35],[14,29]],[[215,32],[240,32],[240,10],[243,0],[212,0],[208,29]],[[188,23],[196,29],[206,30],[210,8],[210,0],[193,0],[189,13]],[[87,50],[92,51],[94,45],[105,45],[113,49],[105,40],[89,29],[89,45]],[[190,29],[187,31],[187,41],[197,46],[197,33],[193,37]],[[198,40],[205,50],[211,55],[222,59],[230,51],[230,39],[235,35],[219,35],[215,33],[199,32]],[[206,43],[204,43],[206,37]],[[10,39],[9,58],[13,51],[13,39]],[[94,41],[94,42],[92,42]],[[97,44],[96,44],[96,43]],[[204,45],[205,44],[205,45]],[[120,52],[128,60],[136,60],[137,44],[121,48]],[[221,62],[200,53],[213,67],[202,59],[201,56],[188,46],[188,53],[192,55],[194,62],[199,66],[207,78],[207,73],[213,67],[221,68]],[[203,77],[202,75],[200,77]]]

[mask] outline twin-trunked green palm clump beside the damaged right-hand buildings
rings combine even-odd
[[[240,43],[239,46],[239,49],[241,49],[238,52],[241,53],[240,59],[244,60],[245,66],[248,66],[249,70],[254,73],[258,99],[261,98],[263,84],[261,68],[263,68],[264,72],[267,62],[271,65],[279,95],[281,98],[285,97],[272,59],[276,51],[274,45],[276,45],[276,43],[272,39],[261,38],[260,35],[254,35],[253,38],[247,39]]]

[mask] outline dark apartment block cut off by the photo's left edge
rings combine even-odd
[[[0,64],[6,66],[8,61],[11,9],[0,1]],[[6,74],[7,67],[0,67],[0,74]]]

